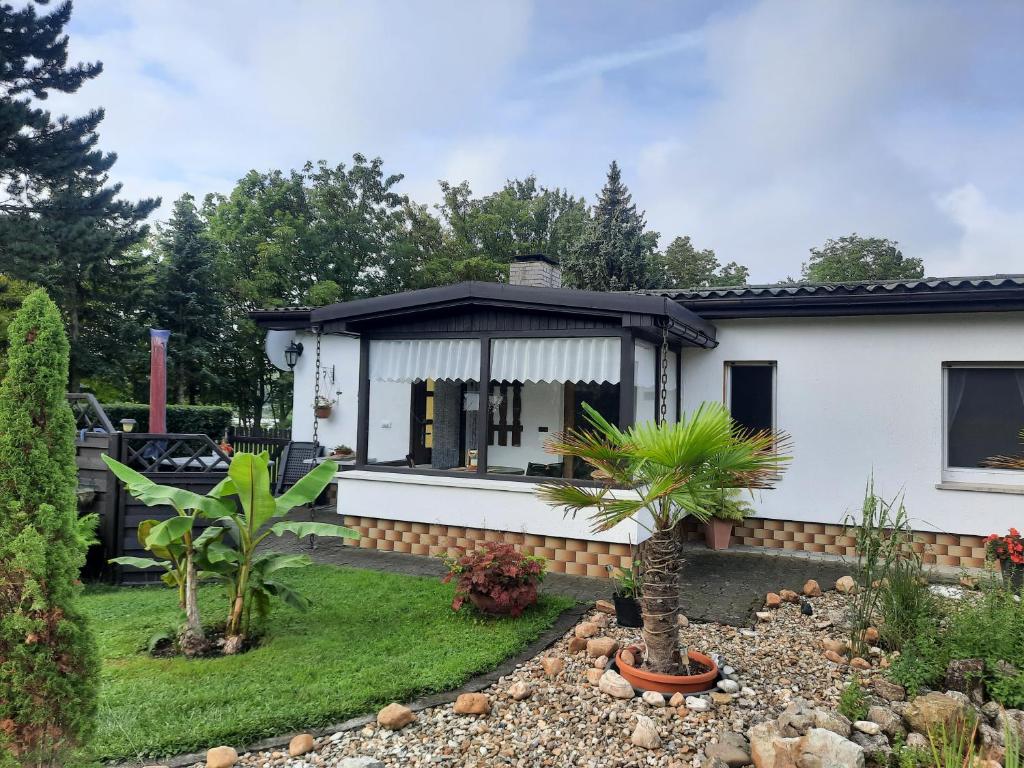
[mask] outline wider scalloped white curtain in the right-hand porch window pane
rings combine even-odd
[[[617,338],[495,339],[490,378],[617,384],[618,348]]]

